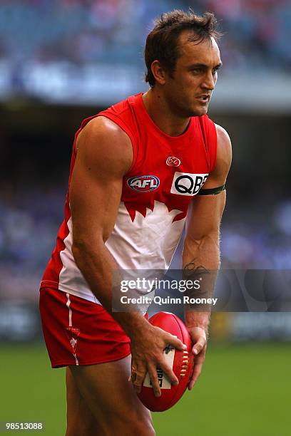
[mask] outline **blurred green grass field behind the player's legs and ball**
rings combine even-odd
[[[64,370],[49,368],[44,346],[2,344],[0,362],[0,421],[43,421],[41,435],[64,435]],[[290,436],[290,374],[290,344],[210,346],[195,389],[153,415],[157,435]]]

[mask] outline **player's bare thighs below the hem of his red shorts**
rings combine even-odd
[[[128,382],[130,355],[115,362],[71,366],[67,371],[68,392],[75,391],[75,395],[68,398],[68,428],[75,421],[74,425],[83,431],[78,435],[82,436],[155,435],[150,412]],[[78,412],[74,405],[77,398]],[[84,420],[88,430],[82,428],[80,421]],[[74,435],[67,432],[67,436]]]

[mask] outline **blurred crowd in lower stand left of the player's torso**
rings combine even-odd
[[[0,300],[38,298],[39,282],[62,221],[64,192],[55,187],[0,190]]]

